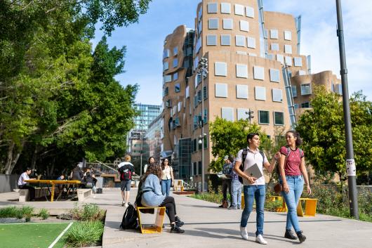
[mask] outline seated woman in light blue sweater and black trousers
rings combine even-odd
[[[185,233],[185,230],[180,228],[183,222],[175,211],[174,198],[161,193],[161,174],[161,167],[157,164],[148,165],[146,173],[141,178],[143,192],[141,204],[145,207],[166,207],[166,214],[171,221],[171,233]]]

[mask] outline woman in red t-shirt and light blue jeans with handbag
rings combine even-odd
[[[281,195],[283,195],[288,207],[286,219],[286,233],[284,237],[291,240],[306,240],[303,231],[300,229],[297,218],[297,204],[303,193],[304,180],[307,185],[307,193],[311,194],[309,178],[305,167],[305,155],[298,145],[303,143],[300,134],[296,131],[286,132],[287,145],[280,148],[282,155],[279,162],[280,178],[279,183],[282,185]],[[297,237],[292,233],[292,226]]]

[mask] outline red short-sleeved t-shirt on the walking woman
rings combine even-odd
[[[295,150],[292,150],[289,148],[289,155],[287,154],[287,147],[282,146],[280,148],[280,153],[284,156],[286,156],[286,161],[284,162],[284,171],[286,173],[286,176],[300,176],[300,165],[301,165],[301,159],[305,157],[303,150],[296,148]]]

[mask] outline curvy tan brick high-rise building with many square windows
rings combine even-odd
[[[340,93],[336,75],[311,74],[310,56],[300,55],[300,20],[263,11],[261,0],[207,0],[197,6],[194,30],[181,25],[166,37],[161,155],[172,159],[176,176],[201,181],[202,167],[210,172],[209,123],[216,117],[235,121],[252,112],[251,121],[274,138],[310,107],[314,85]],[[197,72],[202,57],[208,59],[203,75]]]

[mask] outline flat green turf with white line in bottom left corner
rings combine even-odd
[[[1,224],[1,247],[49,247],[68,225],[69,223]],[[62,248],[64,244],[62,237],[54,247]]]

